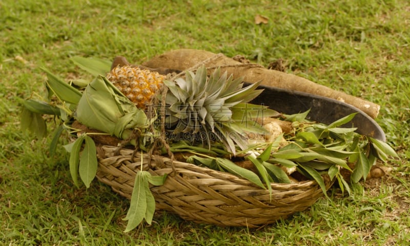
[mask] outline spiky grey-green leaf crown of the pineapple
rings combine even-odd
[[[249,104],[262,92],[255,90],[260,82],[243,87],[242,80],[233,79],[232,75],[228,77],[227,72],[221,74],[220,68],[208,77],[204,66],[196,73],[187,71],[185,79],[165,80],[169,88],[167,126],[173,129],[173,133],[200,134],[202,142],[206,137],[209,145],[210,139],[216,137],[233,153],[236,144],[241,149],[247,148],[245,133],[266,133],[253,119],[276,112]]]

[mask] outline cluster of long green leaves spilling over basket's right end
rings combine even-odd
[[[307,113],[286,117],[290,121],[304,122]],[[296,129],[296,135],[291,136],[291,144],[272,153],[268,162],[288,167],[297,165],[299,172],[316,180],[323,191],[325,186],[321,175],[327,170],[331,178],[337,178],[342,189],[344,187],[350,192],[338,170],[345,168],[352,171],[347,162],[355,163],[351,181],[357,183],[362,178],[365,180],[376,159],[386,161],[387,156],[397,157],[388,144],[360,136],[354,132],[356,128],[339,128],[350,122],[355,115],[348,115],[327,126],[317,123],[301,124],[301,128]]]

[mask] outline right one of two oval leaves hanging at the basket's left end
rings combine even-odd
[[[87,188],[90,187],[92,180],[97,173],[97,149],[92,138],[85,135],[85,146],[81,153],[78,171],[80,178]]]

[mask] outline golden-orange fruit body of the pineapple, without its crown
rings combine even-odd
[[[141,70],[131,65],[116,66],[107,74],[107,79],[141,109],[152,102],[165,78],[157,72]]]

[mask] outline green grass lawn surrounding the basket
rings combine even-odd
[[[397,1],[0,2],[0,244],[407,245],[410,242],[410,5]],[[255,25],[254,16],[269,18]],[[381,179],[337,187],[311,209],[259,230],[196,225],[162,213],[124,233],[129,201],[73,186],[67,154],[19,129],[20,102],[44,95],[46,66],[70,79],[74,55],[135,63],[163,52],[242,54],[381,105],[376,119],[400,160]],[[52,130],[52,124],[49,125]]]

